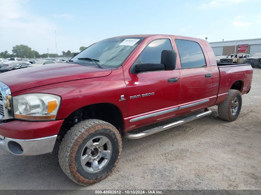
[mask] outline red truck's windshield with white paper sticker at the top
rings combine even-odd
[[[102,67],[120,67],[131,52],[141,43],[143,37],[117,37],[99,41],[78,55],[74,56],[70,62],[93,63],[91,60],[99,60]]]

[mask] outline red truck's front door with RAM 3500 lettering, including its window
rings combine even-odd
[[[172,49],[170,37],[153,40],[136,59],[136,63],[161,63],[163,50]],[[133,65],[134,65],[133,64]],[[129,130],[174,117],[178,112],[179,70],[130,74],[126,80]]]

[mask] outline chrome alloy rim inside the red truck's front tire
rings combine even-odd
[[[85,144],[81,154],[82,168],[89,173],[98,172],[112,156],[112,143],[105,136],[95,136]]]

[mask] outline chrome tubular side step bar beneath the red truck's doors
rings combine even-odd
[[[131,139],[131,140],[140,139],[142,137],[146,137],[146,136],[152,135],[154,133],[158,133],[158,132],[170,129],[172,127],[176,127],[178,125],[190,122],[192,120],[196,120],[196,119],[201,118],[203,116],[210,115],[211,112],[212,112],[211,110],[209,110],[208,108],[205,108],[203,113],[184,118],[183,120],[179,120],[179,121],[176,121],[174,123],[170,123],[170,124],[162,125],[162,126],[159,126],[159,127],[155,127],[155,128],[152,128],[152,129],[149,129],[149,130],[143,131],[141,133],[137,133],[137,134],[124,133],[123,136],[125,138]]]

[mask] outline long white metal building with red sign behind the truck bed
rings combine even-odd
[[[252,56],[255,53],[261,53],[261,38],[260,39],[243,39],[234,41],[220,41],[209,43],[215,55],[230,55],[237,53],[238,45],[248,44],[246,52]]]

